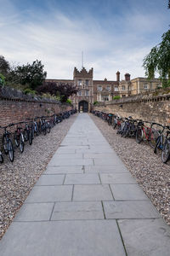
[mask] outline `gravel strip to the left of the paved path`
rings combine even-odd
[[[26,143],[23,154],[16,148],[13,163],[3,154],[4,163],[0,165],[0,239],[76,117],[77,114],[55,125],[46,136],[35,137],[31,146]]]

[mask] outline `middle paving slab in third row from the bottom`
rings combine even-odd
[[[106,184],[75,185],[73,201],[106,201],[113,200],[111,189]]]

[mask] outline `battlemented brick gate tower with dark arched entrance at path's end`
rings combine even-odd
[[[82,67],[81,71],[74,68],[73,81],[77,86],[77,96],[73,96],[72,102],[80,112],[88,112],[94,104],[94,87],[93,87],[94,69],[89,71]]]

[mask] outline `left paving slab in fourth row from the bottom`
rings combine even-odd
[[[42,175],[39,177],[36,186],[51,186],[51,185],[61,185],[63,184],[65,179],[64,174],[58,174],[58,175]]]

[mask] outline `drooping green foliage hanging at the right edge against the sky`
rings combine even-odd
[[[161,44],[150,50],[144,57],[143,67],[148,79],[153,79],[155,72],[159,73],[162,84],[170,85],[170,30],[162,35]]]

